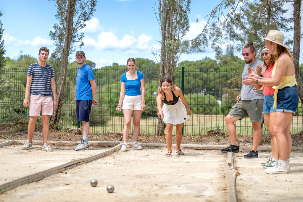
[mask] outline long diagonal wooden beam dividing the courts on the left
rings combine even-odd
[[[31,175],[27,175],[25,177],[20,177],[16,180],[12,180],[12,181],[6,182],[4,184],[0,184],[0,194],[3,194],[4,192],[6,192],[8,190],[12,190],[12,189],[14,189],[18,186],[23,185],[23,184],[29,184],[29,183],[32,183],[32,182],[35,182],[35,181],[38,181],[38,180],[42,180],[45,177],[51,176],[53,174],[57,174],[59,172],[62,172],[62,171],[68,170],[68,169],[71,169],[73,167],[76,167],[79,164],[87,163],[89,161],[93,161],[93,160],[96,160],[98,158],[104,157],[107,154],[110,154],[110,153],[120,149],[121,147],[122,147],[122,143],[118,144],[115,147],[112,147],[112,148],[110,148],[110,149],[108,149],[108,150],[106,150],[106,151],[104,151],[100,154],[96,154],[96,155],[93,155],[91,157],[75,159],[75,160],[69,161],[65,164],[61,164],[59,166],[52,167],[52,168],[49,168],[49,169],[44,170],[44,171],[40,171],[40,172],[31,174]]]

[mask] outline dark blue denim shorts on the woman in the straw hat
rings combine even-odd
[[[295,114],[298,108],[299,96],[297,91],[297,86],[285,87],[278,89],[278,112],[291,112]]]

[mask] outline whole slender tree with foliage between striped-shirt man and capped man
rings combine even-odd
[[[76,48],[81,48],[84,43],[82,38],[84,33],[78,33],[84,28],[95,12],[97,0],[53,0],[57,7],[55,17],[58,23],[49,32],[50,38],[54,41],[56,49],[51,57],[51,62],[58,65],[57,71],[60,72],[57,80],[57,108],[52,116],[52,124],[58,124],[62,108],[63,93],[68,60],[71,54],[75,53]]]

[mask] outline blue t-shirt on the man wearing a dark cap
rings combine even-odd
[[[85,64],[77,71],[76,100],[93,100],[90,80],[95,80],[94,71],[90,66]]]

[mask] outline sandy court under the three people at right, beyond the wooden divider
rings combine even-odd
[[[291,153],[291,172],[275,175],[266,174],[260,165],[271,157],[271,152],[259,152],[255,159],[245,159],[245,154],[234,154],[238,201],[303,201],[302,152]]]

